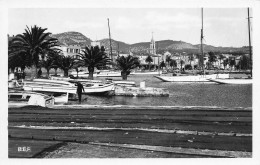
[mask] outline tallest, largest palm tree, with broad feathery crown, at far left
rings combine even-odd
[[[13,42],[14,47],[19,52],[24,52],[28,56],[29,63],[35,67],[35,73],[32,77],[37,75],[37,67],[39,63],[39,56],[44,56],[44,51],[52,51],[57,46],[57,39],[49,37],[51,33],[46,33],[46,28],[26,26],[25,33],[18,34]]]

